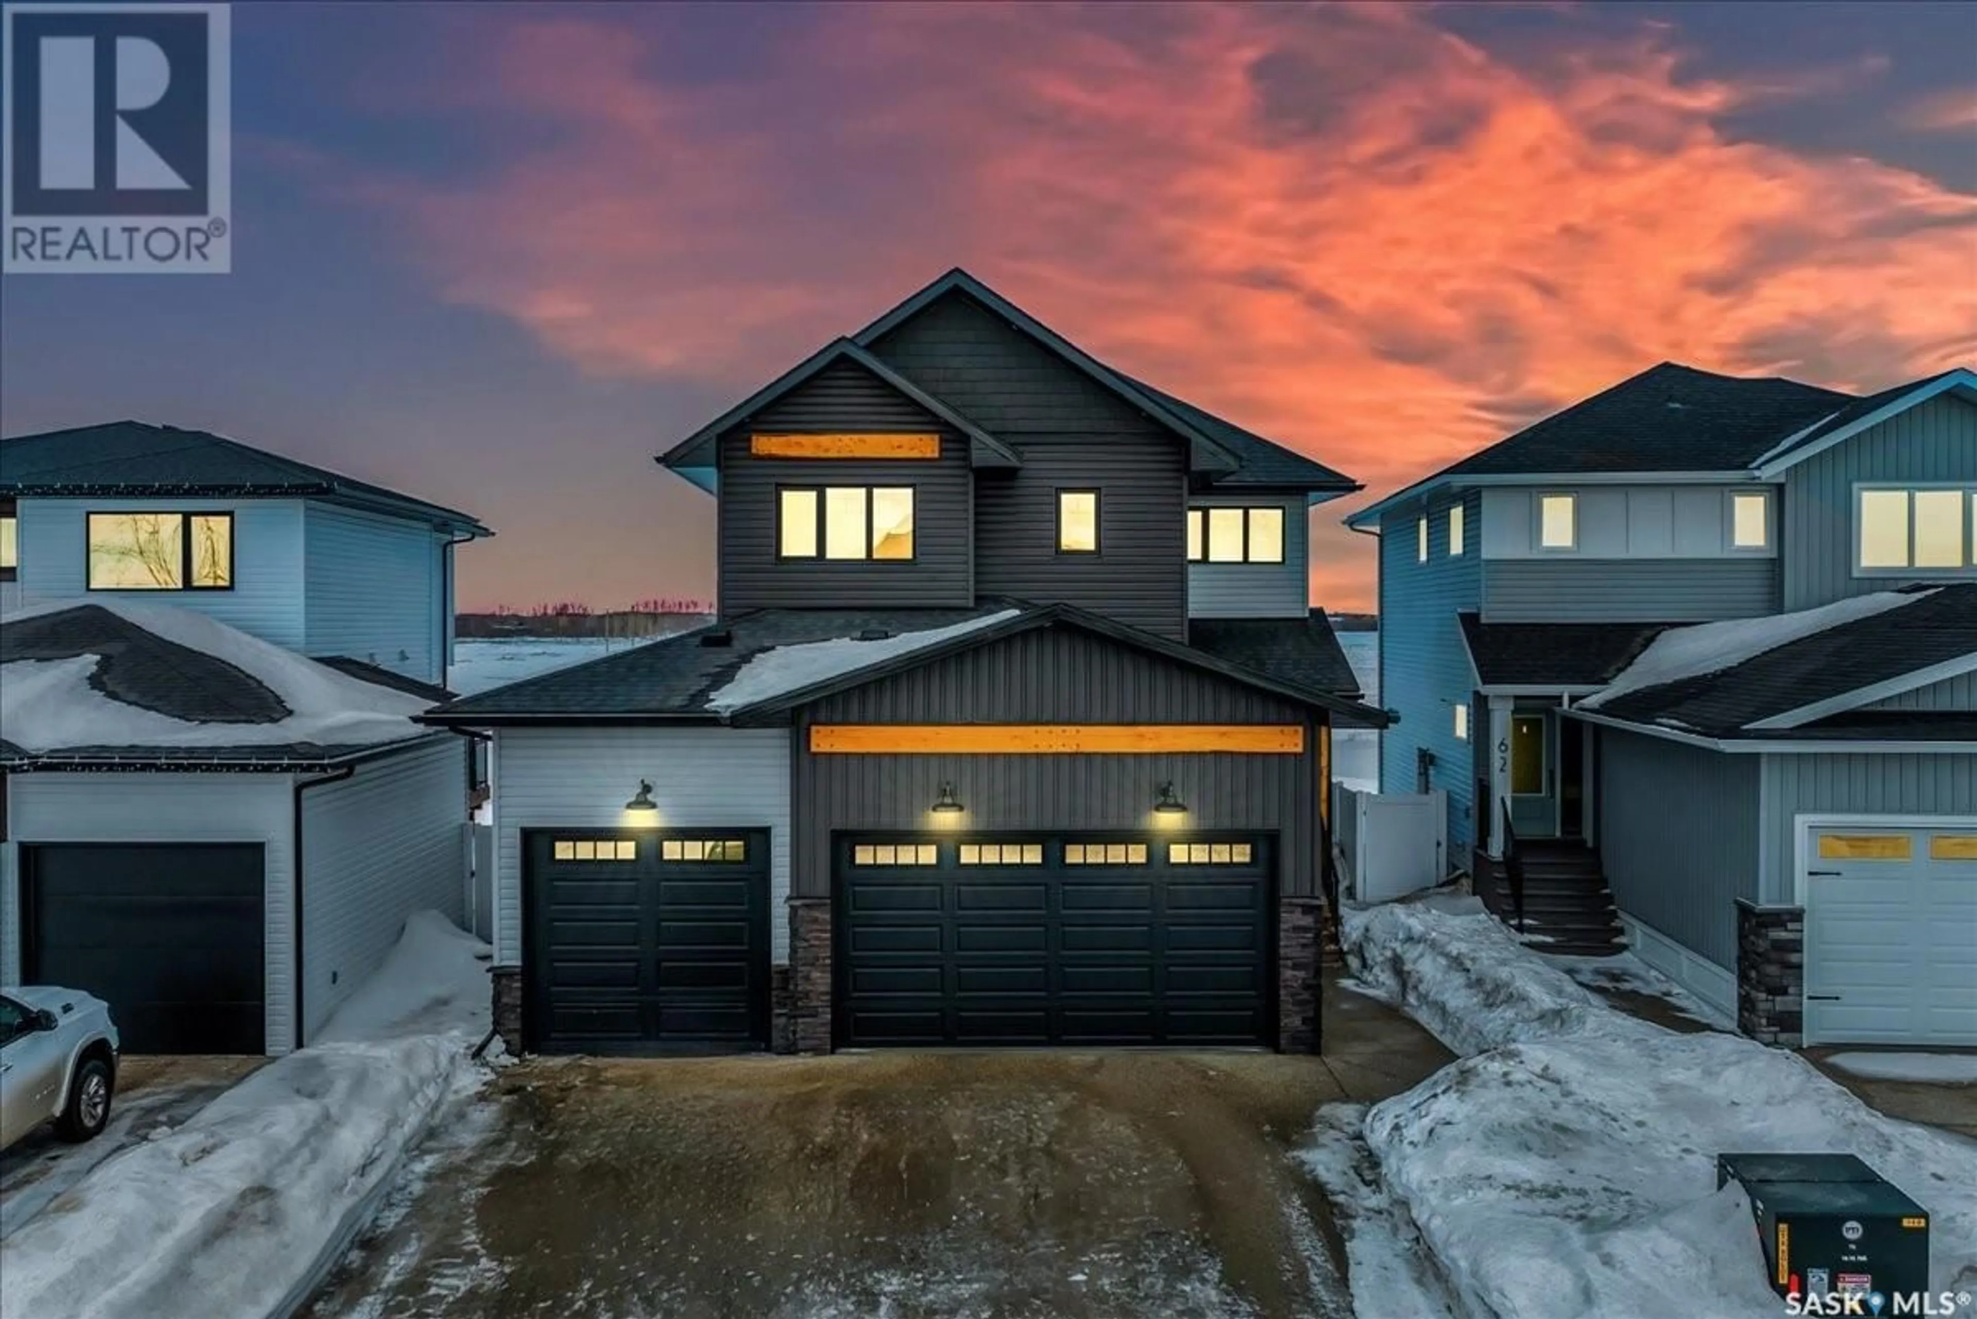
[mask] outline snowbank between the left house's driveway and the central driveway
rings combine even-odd
[[[356,1232],[445,1099],[478,1084],[484,945],[431,912],[330,1020],[0,1244],[4,1319],[261,1319]]]

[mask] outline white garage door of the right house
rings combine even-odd
[[[1805,1042],[1977,1044],[1977,829],[1807,842]]]

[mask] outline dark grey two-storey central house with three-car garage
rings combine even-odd
[[[514,1048],[1317,1042],[1338,473],[961,271],[658,459],[710,627],[459,700]]]

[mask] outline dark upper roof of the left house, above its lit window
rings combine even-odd
[[[465,512],[340,477],[210,431],[107,421],[0,439],[0,494],[47,498],[320,498],[447,532],[492,536]]]

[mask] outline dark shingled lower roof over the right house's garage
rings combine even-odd
[[[1839,623],[1732,668],[1623,692],[1603,700],[1597,712],[1710,738],[1771,738],[1777,730],[1750,726],[1977,655],[1977,583],[1916,589],[1914,595],[1910,605]],[[1930,718],[1945,720],[1941,714]]]

